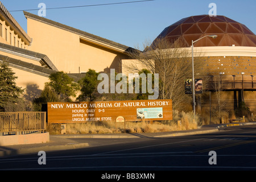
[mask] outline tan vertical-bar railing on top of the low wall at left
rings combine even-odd
[[[0,113],[0,134],[46,130],[46,112]]]

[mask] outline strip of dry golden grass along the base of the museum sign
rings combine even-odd
[[[177,125],[181,121],[181,126]],[[200,125],[200,118],[196,116],[193,121],[193,113],[173,112],[172,121],[155,121],[155,122],[126,122],[116,123],[114,121],[90,121],[86,123],[69,123],[66,125],[66,134],[112,134],[112,133],[158,133],[177,130],[196,129]],[[60,134],[60,124],[51,124],[48,126],[50,134]]]

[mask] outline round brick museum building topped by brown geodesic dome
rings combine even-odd
[[[197,97],[199,113],[209,110],[210,103],[212,107],[217,104],[216,90],[205,88],[204,80],[212,84],[220,82],[220,90],[224,93],[221,102],[226,110],[235,110],[244,101],[255,113],[256,35],[244,24],[220,15],[189,16],[164,28],[154,42],[157,39],[182,42],[188,52],[192,52],[192,40],[197,40],[193,43],[194,57],[200,57],[204,68],[195,73],[195,79],[201,78],[203,89],[212,91],[212,97],[209,97],[209,92]],[[154,42],[149,52],[154,51]]]

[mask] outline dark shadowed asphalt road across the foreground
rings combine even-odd
[[[41,165],[38,154],[5,157],[0,159],[0,170],[256,170],[255,125],[179,137],[72,140],[88,142],[89,147],[46,152],[46,164]],[[209,155],[210,151],[216,153]]]

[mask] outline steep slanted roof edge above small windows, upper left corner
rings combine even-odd
[[[19,23],[14,19],[14,17],[10,14],[10,12],[6,9],[3,3],[0,1],[0,13],[5,16],[5,20],[8,24],[16,29],[16,31],[20,32],[20,35],[24,38],[26,44],[30,45],[32,39],[27,33],[23,30],[23,28],[19,25]]]

